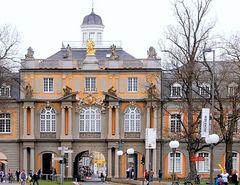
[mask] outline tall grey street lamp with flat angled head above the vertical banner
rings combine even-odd
[[[215,73],[215,50],[212,48],[205,48],[203,50],[203,54],[204,53],[209,53],[212,52],[213,53],[213,68],[212,68],[212,106],[211,106],[211,113],[212,113],[212,122],[211,125],[213,124],[213,120],[214,120],[214,91],[215,91],[215,87],[214,87],[214,83],[215,83],[215,78],[214,78],[214,73]],[[212,130],[212,127],[210,127],[210,131]]]

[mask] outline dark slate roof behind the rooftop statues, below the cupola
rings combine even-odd
[[[133,60],[136,59],[134,56],[130,55],[122,48],[117,48],[116,53],[119,56],[119,60]],[[66,54],[66,48],[62,48],[57,53],[48,57],[47,60],[62,60]],[[96,58],[97,60],[108,60],[107,54],[111,55],[111,50],[109,48],[96,48]],[[72,58],[75,60],[84,60],[86,58],[86,48],[72,48]]]

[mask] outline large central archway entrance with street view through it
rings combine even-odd
[[[83,151],[74,160],[74,178],[78,181],[100,181],[100,174],[106,175],[106,160],[102,153]]]

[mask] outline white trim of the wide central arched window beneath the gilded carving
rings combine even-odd
[[[99,120],[98,119],[95,119],[95,122],[94,122],[94,130],[92,131],[91,130],[91,119],[89,119],[89,130],[86,129],[86,126],[87,126],[87,123],[86,123],[86,112],[89,111],[90,115],[91,115],[91,111],[94,110],[95,112],[95,117],[99,114]],[[81,119],[80,116],[81,116],[81,112],[84,111],[84,118]],[[81,130],[81,120],[83,120],[83,130]],[[97,121],[99,121],[99,130],[97,130]],[[101,121],[101,110],[98,108],[98,107],[85,107],[85,108],[82,108],[80,113],[79,113],[79,132],[80,133],[84,133],[84,132],[101,132],[101,124],[102,124],[102,121]]]

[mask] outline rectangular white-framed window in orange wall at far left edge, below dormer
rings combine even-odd
[[[9,134],[11,133],[11,114],[10,113],[0,113],[0,133]]]

